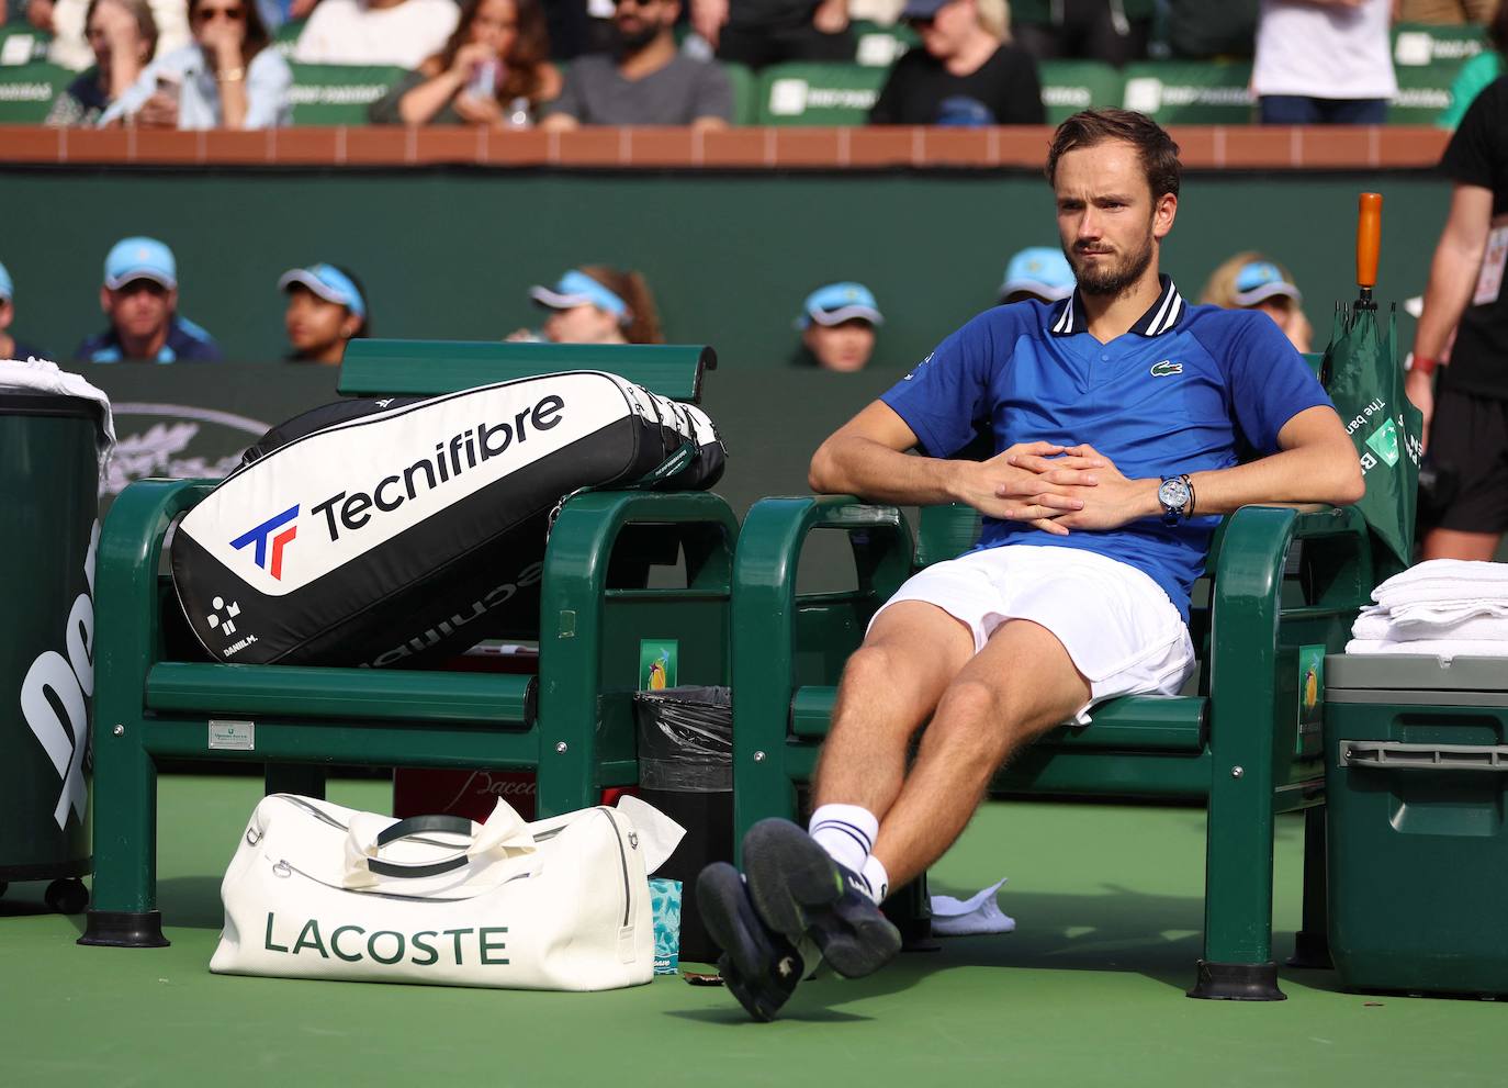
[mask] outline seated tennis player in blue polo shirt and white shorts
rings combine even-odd
[[[808,828],[762,821],[742,874],[698,878],[759,1020],[819,954],[858,978],[899,951],[879,904],[953,844],[1012,751],[1101,700],[1179,690],[1220,515],[1362,496],[1341,418],[1273,320],[1190,306],[1160,275],[1179,174],[1139,113],[1063,122],[1047,178],[1078,290],[980,314],[811,460],[819,492],[967,503],[983,531],[902,585],[849,658]],[[976,426],[995,456],[950,460]]]

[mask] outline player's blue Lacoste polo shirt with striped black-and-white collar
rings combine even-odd
[[[1303,356],[1267,314],[1190,306],[1161,278],[1131,330],[1101,344],[1083,302],[989,309],[891,386],[881,400],[932,457],[958,453],[988,421],[995,453],[1018,442],[1089,442],[1128,478],[1220,469],[1277,451],[1292,416],[1330,404]],[[1056,536],[983,519],[979,548],[1083,548],[1128,563],[1167,592],[1184,619],[1220,518],[1167,527],[1143,518],[1117,530]]]

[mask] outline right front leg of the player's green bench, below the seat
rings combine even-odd
[[[1188,996],[1283,1000],[1273,960],[1270,770],[1258,761],[1224,767],[1218,756],[1215,768],[1205,857],[1205,958]]]

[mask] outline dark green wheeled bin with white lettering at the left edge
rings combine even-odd
[[[0,601],[0,892],[47,880],[53,910],[87,904],[93,563],[100,409],[0,391],[6,496]]]

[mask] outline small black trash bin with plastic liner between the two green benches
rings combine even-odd
[[[679,687],[633,696],[639,732],[639,794],[686,828],[656,871],[682,883],[680,958],[712,963],[692,892],[710,862],[733,860],[733,699],[730,688]]]

